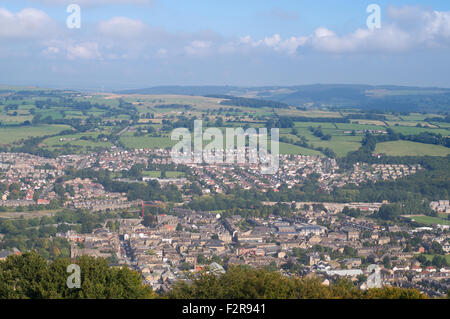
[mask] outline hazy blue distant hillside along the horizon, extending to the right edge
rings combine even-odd
[[[313,84],[301,86],[159,86],[119,94],[232,95],[293,106],[334,106],[381,111],[448,111],[450,89],[390,85]]]

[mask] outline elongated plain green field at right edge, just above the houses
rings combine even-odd
[[[378,143],[375,152],[390,156],[447,156],[450,149],[439,145],[394,141]]]

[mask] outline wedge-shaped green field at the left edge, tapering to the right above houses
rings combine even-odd
[[[1,127],[0,144],[10,144],[30,137],[58,134],[70,129],[68,125],[37,125],[21,127]]]

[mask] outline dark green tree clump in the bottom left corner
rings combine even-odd
[[[80,267],[80,288],[68,288],[67,267]],[[35,252],[9,256],[0,262],[0,299],[150,299],[138,272],[111,268],[105,259],[83,256],[51,263]]]

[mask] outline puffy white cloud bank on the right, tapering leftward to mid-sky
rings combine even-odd
[[[298,50],[333,54],[395,53],[426,48],[450,48],[450,12],[426,11],[418,7],[388,7],[386,21],[380,29],[359,28],[338,35],[325,27],[304,37],[282,39],[278,34],[263,40],[241,38],[252,47],[271,48],[295,54]]]

